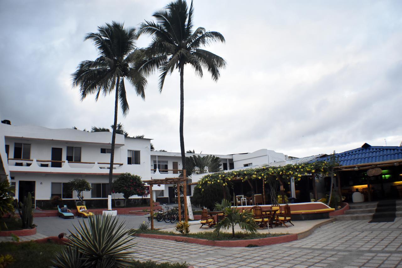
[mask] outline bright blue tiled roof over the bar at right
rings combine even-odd
[[[373,162],[381,162],[402,159],[402,146],[371,146],[367,143],[363,146],[343,153],[335,154],[341,166],[357,165]],[[320,157],[315,161],[328,160],[330,156]]]

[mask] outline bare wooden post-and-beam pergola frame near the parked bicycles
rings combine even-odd
[[[152,194],[152,186],[153,185],[161,185],[161,184],[176,184],[177,186],[177,202],[178,202],[178,221],[181,221],[181,204],[180,204],[180,185],[183,185],[183,196],[184,196],[184,218],[185,221],[189,220],[189,215],[187,212],[187,180],[186,170],[185,169],[169,169],[171,171],[182,171],[183,177],[176,178],[165,178],[165,179],[150,179],[148,181],[144,181],[148,183],[150,186],[150,205],[151,205],[151,230],[154,230],[154,198]]]

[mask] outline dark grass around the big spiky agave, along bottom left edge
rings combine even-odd
[[[8,268],[18,267],[35,267],[45,268],[52,265],[51,260],[54,258],[56,252],[60,252],[64,245],[58,245],[55,243],[36,243],[34,241],[13,243],[13,242],[1,242],[0,252],[2,255],[10,254],[15,262],[12,262]],[[138,252],[140,254],[140,252]],[[135,254],[133,255],[135,257]],[[133,260],[132,267],[136,268],[187,268],[187,264],[176,263],[156,263],[152,261],[139,262]]]

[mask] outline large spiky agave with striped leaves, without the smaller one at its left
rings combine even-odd
[[[75,232],[70,231],[70,245],[84,254],[89,265],[103,267],[113,262],[113,267],[126,267],[135,253],[130,250],[135,243],[130,243],[134,237],[127,236],[129,230],[125,230],[124,222],[107,215],[95,215],[88,220],[88,225],[82,220],[78,227],[74,226]]]

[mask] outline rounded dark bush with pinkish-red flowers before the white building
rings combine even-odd
[[[123,194],[125,206],[130,196],[143,196],[147,190],[141,177],[131,173],[122,173],[113,181],[112,189],[115,193]]]

